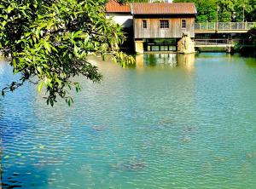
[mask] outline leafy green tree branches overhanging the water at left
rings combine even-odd
[[[105,0],[1,0],[0,52],[20,74],[2,95],[26,81],[38,84],[54,105],[57,96],[70,105],[70,89],[81,86],[73,77],[99,82],[102,75],[88,54],[113,54],[123,66],[133,59],[119,51],[125,37],[121,26],[107,20]]]

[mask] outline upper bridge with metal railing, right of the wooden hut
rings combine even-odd
[[[195,34],[255,32],[256,22],[205,22],[195,23]]]

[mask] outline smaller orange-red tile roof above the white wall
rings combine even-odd
[[[117,0],[109,0],[106,4],[106,12],[108,13],[130,13],[130,5],[118,3]]]

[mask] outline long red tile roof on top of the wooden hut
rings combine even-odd
[[[197,14],[195,3],[131,3],[131,14]]]

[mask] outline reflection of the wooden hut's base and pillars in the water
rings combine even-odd
[[[195,64],[195,54],[137,54],[136,66],[183,66],[191,71]]]

